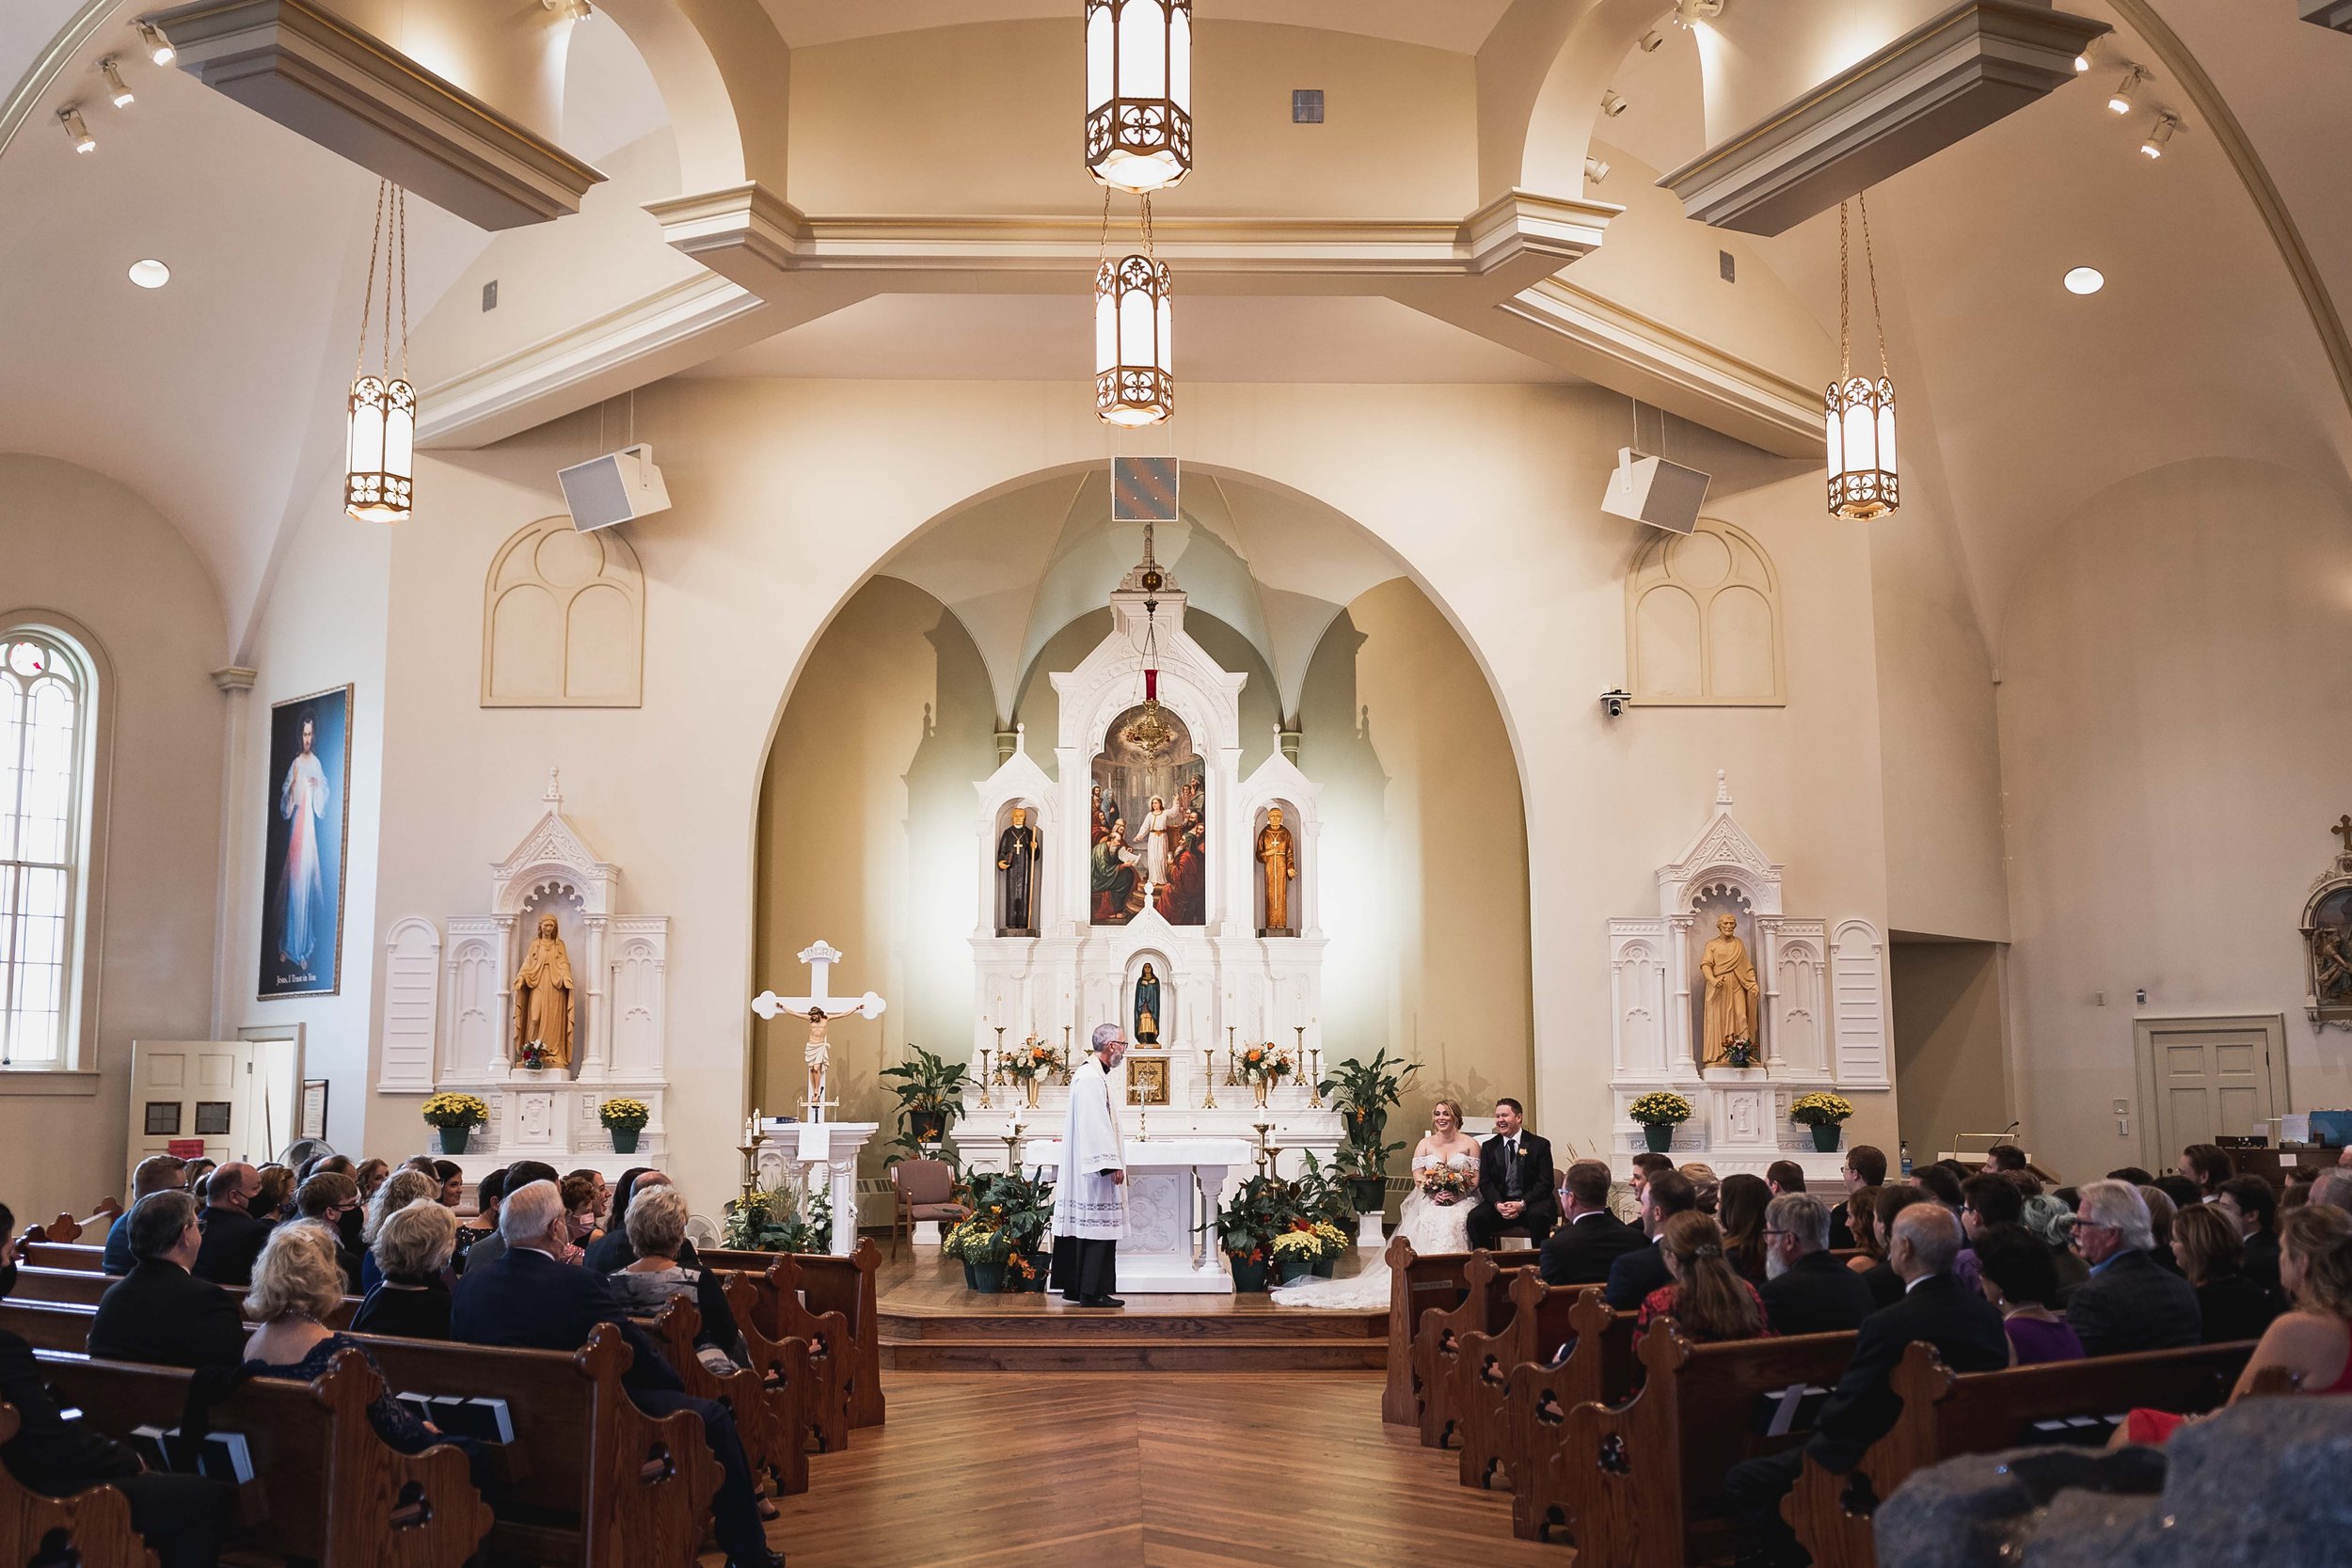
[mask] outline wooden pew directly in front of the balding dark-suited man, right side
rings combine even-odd
[[[1853,1359],[1851,1333],[1691,1345],[1672,1319],[1637,1349],[1646,1382],[1623,1406],[1569,1410],[1562,1443],[1536,1462],[1552,1469],[1564,1528],[1581,1561],[1606,1568],[1684,1568],[1726,1554],[1719,1514],[1724,1472],[1792,1448],[1802,1432],[1750,1432],[1757,1396],[1790,1385],[1835,1387]]]

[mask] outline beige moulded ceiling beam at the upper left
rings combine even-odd
[[[207,87],[477,228],[579,212],[604,176],[315,0],[146,16]]]

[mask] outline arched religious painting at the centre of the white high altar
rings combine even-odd
[[[1171,926],[1207,924],[1207,769],[1192,731],[1160,703],[1110,722],[1094,759],[1089,917],[1124,926],[1145,905]]]

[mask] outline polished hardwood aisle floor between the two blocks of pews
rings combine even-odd
[[[1510,1497],[1381,1425],[1381,1380],[889,1375],[889,1425],[811,1455],[790,1568],[1566,1568]],[[720,1559],[703,1559],[717,1563]]]

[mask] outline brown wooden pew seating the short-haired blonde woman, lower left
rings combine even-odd
[[[188,1380],[176,1366],[92,1361],[40,1352],[42,1375],[82,1418],[113,1434],[176,1427]],[[233,1542],[308,1559],[318,1568],[461,1568],[489,1533],[489,1505],[447,1443],[395,1453],[367,1422],[381,1392],[353,1352],[313,1382],[249,1378],[212,1406],[214,1432],[240,1432],[254,1458],[259,1507]]]

